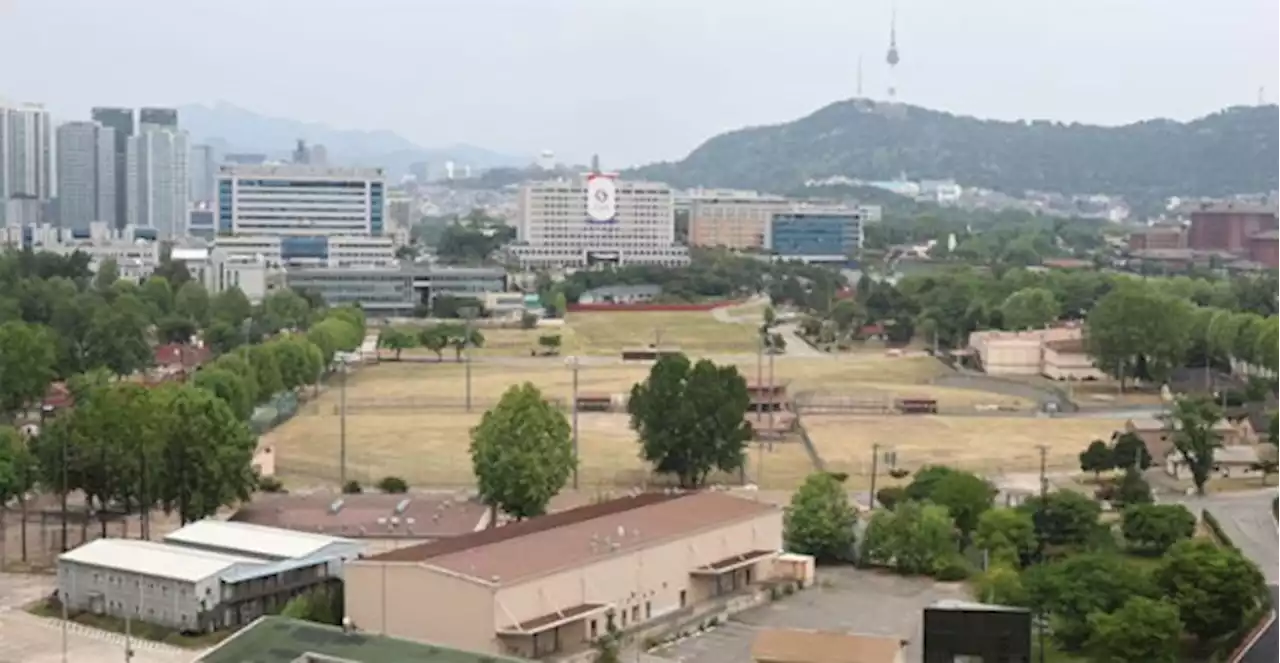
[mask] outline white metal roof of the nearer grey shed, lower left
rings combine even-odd
[[[99,539],[63,553],[58,561],[187,582],[197,582],[241,564],[262,564],[261,559],[137,539]]]

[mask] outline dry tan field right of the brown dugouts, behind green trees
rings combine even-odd
[[[832,416],[809,415],[805,429],[832,471],[868,476],[872,445],[897,452],[897,465],[915,470],[950,465],[980,474],[1039,470],[1038,444],[1048,447],[1050,471],[1079,467],[1079,453],[1107,439],[1120,419],[1041,419],[983,416]]]

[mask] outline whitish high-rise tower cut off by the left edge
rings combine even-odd
[[[0,102],[0,200],[58,196],[54,127],[38,104]]]

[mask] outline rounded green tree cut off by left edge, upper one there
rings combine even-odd
[[[0,324],[0,417],[12,421],[49,390],[58,346],[47,328]]]

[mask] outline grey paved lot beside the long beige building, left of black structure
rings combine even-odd
[[[908,640],[905,660],[918,662],[924,607],[940,599],[969,599],[960,585],[904,579],[854,568],[822,568],[818,584],[791,596],[737,614],[710,631],[654,649],[649,654],[680,663],[751,660],[760,628],[808,628]]]

